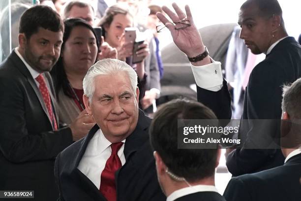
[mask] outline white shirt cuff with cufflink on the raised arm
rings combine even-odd
[[[217,92],[223,87],[221,63],[215,62],[213,59],[211,59],[211,62],[211,64],[198,67],[190,63],[190,66],[195,82],[199,87]]]

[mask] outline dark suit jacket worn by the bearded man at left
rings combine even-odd
[[[44,77],[56,111],[49,73]],[[0,66],[0,128],[0,190],[34,190],[37,201],[56,200],[54,162],[72,143],[71,130],[53,132],[39,89],[14,51]]]

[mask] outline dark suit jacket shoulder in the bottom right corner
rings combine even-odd
[[[283,166],[233,177],[224,192],[227,201],[301,201],[301,154]]]

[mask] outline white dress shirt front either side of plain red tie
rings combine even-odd
[[[125,164],[125,156],[123,153],[125,139],[122,140],[122,142],[123,145],[117,154],[123,166]],[[85,154],[77,167],[98,189],[101,182],[101,173],[112,153],[111,144],[102,131],[98,129],[88,143]]]

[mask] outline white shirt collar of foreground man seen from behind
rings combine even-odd
[[[178,198],[181,198],[181,197],[189,195],[189,194],[193,194],[193,193],[197,193],[197,192],[205,192],[205,191],[211,191],[211,192],[218,193],[215,186],[195,185],[195,186],[189,186],[189,187],[182,188],[182,189],[179,189],[177,191],[174,191],[172,194],[170,194],[167,197],[166,201],[174,201],[174,200],[177,200]]]

